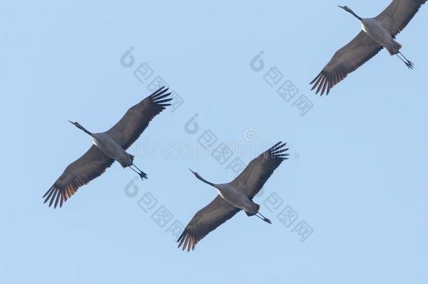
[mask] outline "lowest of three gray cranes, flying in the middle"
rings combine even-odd
[[[253,202],[253,198],[263,184],[274,173],[274,170],[287,159],[283,149],[286,143],[278,142],[273,147],[253,159],[241,174],[232,182],[227,184],[213,184],[203,179],[198,173],[190,170],[198,180],[209,184],[218,191],[218,196],[206,207],[199,210],[192,220],[187,224],[185,230],[178,238],[178,248],[194,250],[196,243],[206,236],[210,231],[232,218],[237,212],[243,210],[247,216],[257,216],[263,221],[272,222],[260,212],[260,205]]]

